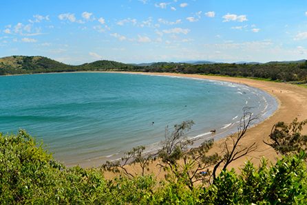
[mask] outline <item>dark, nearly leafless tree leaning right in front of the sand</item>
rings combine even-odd
[[[216,173],[220,166],[222,166],[222,171],[225,171],[231,162],[242,158],[243,156],[257,149],[257,144],[255,142],[248,145],[248,147],[242,147],[242,144],[240,144],[241,140],[246,136],[245,133],[248,127],[253,125],[253,122],[258,118],[258,116],[253,116],[250,109],[251,107],[243,108],[243,116],[240,119],[240,125],[237,127],[237,134],[226,138],[223,144],[224,154],[213,167],[213,183],[216,179]]]

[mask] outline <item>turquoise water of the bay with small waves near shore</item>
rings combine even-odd
[[[218,138],[236,130],[242,107],[263,118],[276,109],[258,89],[191,78],[36,74],[2,76],[0,85],[0,131],[27,130],[67,165],[118,158],[141,144],[156,149],[165,127],[183,120],[195,122],[189,137]]]

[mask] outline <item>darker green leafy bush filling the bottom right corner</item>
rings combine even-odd
[[[246,162],[242,173],[222,171],[215,184],[204,188],[209,204],[306,204],[306,153],[286,156],[271,167],[262,160],[259,168]]]

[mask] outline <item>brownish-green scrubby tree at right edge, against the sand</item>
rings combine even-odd
[[[289,125],[286,125],[285,122],[277,122],[272,127],[268,142],[264,143],[270,145],[277,153],[282,155],[307,151],[307,135],[301,134],[301,130],[306,123],[307,120],[298,122],[297,118]]]

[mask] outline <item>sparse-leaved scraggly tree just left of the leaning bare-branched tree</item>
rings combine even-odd
[[[158,165],[167,171],[166,179],[173,182],[182,182],[193,190],[195,182],[208,182],[209,167],[218,161],[218,154],[207,156],[213,146],[213,139],[205,140],[200,147],[191,148],[193,140],[184,136],[189,131],[193,121],[185,121],[175,125],[174,130],[165,134],[163,147],[158,152],[161,163]]]

